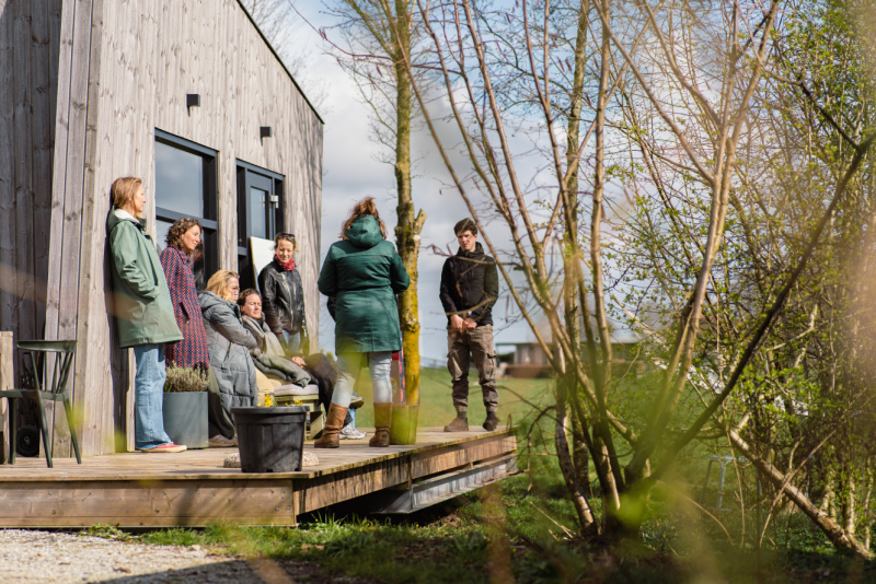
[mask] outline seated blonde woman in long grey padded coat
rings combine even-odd
[[[211,379],[218,386],[221,407],[210,407],[211,446],[233,446],[237,441],[223,431],[231,420],[231,408],[256,405],[255,364],[250,350],[258,347],[252,332],[241,323],[240,277],[237,272],[219,270],[207,281],[206,290],[198,292],[198,302],[207,330],[210,351]],[[231,425],[233,428],[233,424]],[[230,440],[222,440],[230,439]]]

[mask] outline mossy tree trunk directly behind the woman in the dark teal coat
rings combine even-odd
[[[405,55],[411,55],[411,19],[404,0],[395,0],[395,184],[399,203],[395,208],[397,224],[395,244],[399,256],[411,277],[411,287],[400,295],[399,322],[402,327],[404,350],[404,386],[408,405],[419,404],[419,302],[417,301],[417,257],[419,234],[426,213],[414,209],[411,190],[411,77],[405,67]]]

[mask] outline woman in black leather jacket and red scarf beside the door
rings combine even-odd
[[[258,275],[265,320],[289,358],[306,355],[310,350],[304,289],[295,269],[297,250],[295,235],[278,233],[274,237],[274,260]]]

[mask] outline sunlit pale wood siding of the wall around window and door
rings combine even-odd
[[[132,433],[111,317],[113,179],[142,177],[154,225],[154,129],[219,151],[219,262],[235,269],[237,160],[285,175],[315,339],[322,122],[237,0],[65,0],[61,38],[47,336],[79,340],[73,399],[83,454],[94,455],[130,446]],[[191,114],[187,93],[201,96]],[[274,128],[264,143],[260,126]],[[66,455],[69,441],[56,448]]]

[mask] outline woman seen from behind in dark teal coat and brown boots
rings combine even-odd
[[[374,435],[369,446],[390,445],[392,353],[401,350],[395,295],[411,284],[371,197],[359,201],[332,244],[320,271],[320,292],[334,296],[337,384],[318,448],[337,448],[362,360],[369,361],[374,389]]]

